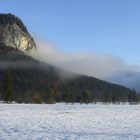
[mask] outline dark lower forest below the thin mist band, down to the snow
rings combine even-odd
[[[47,69],[49,69],[48,66]],[[137,104],[140,100],[135,90],[122,86],[111,86],[110,83],[90,77],[94,80],[93,82],[86,76],[64,82],[50,76],[52,68],[50,68],[50,73],[44,71],[43,74],[43,71],[40,70],[33,67],[33,69],[28,70],[6,69],[1,71],[0,74],[3,75],[0,86],[1,100],[49,104],[56,102],[81,104],[129,102],[130,104]]]

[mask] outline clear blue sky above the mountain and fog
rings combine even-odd
[[[139,0],[1,0],[38,38],[65,52],[106,53],[140,63]]]

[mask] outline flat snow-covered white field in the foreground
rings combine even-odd
[[[140,105],[0,104],[0,140],[140,140]]]

